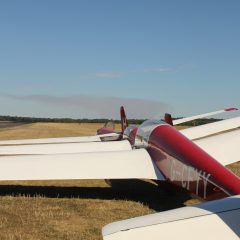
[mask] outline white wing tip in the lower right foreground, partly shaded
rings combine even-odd
[[[107,225],[104,240],[239,240],[240,195]]]

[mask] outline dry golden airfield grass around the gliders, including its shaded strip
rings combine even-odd
[[[93,135],[102,124],[34,123],[0,130],[0,139]],[[117,128],[120,128],[118,125]],[[240,175],[240,164],[231,169]],[[196,203],[142,180],[0,181],[0,239],[98,240],[113,221]]]

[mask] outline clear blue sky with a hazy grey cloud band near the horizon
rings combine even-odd
[[[0,1],[0,115],[240,108],[239,0]]]

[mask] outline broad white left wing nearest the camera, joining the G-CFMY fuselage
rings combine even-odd
[[[145,149],[0,157],[0,180],[130,178],[164,180]]]

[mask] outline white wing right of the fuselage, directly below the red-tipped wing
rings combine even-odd
[[[180,130],[180,132],[190,140],[194,140],[238,127],[240,127],[240,117],[187,128]]]

